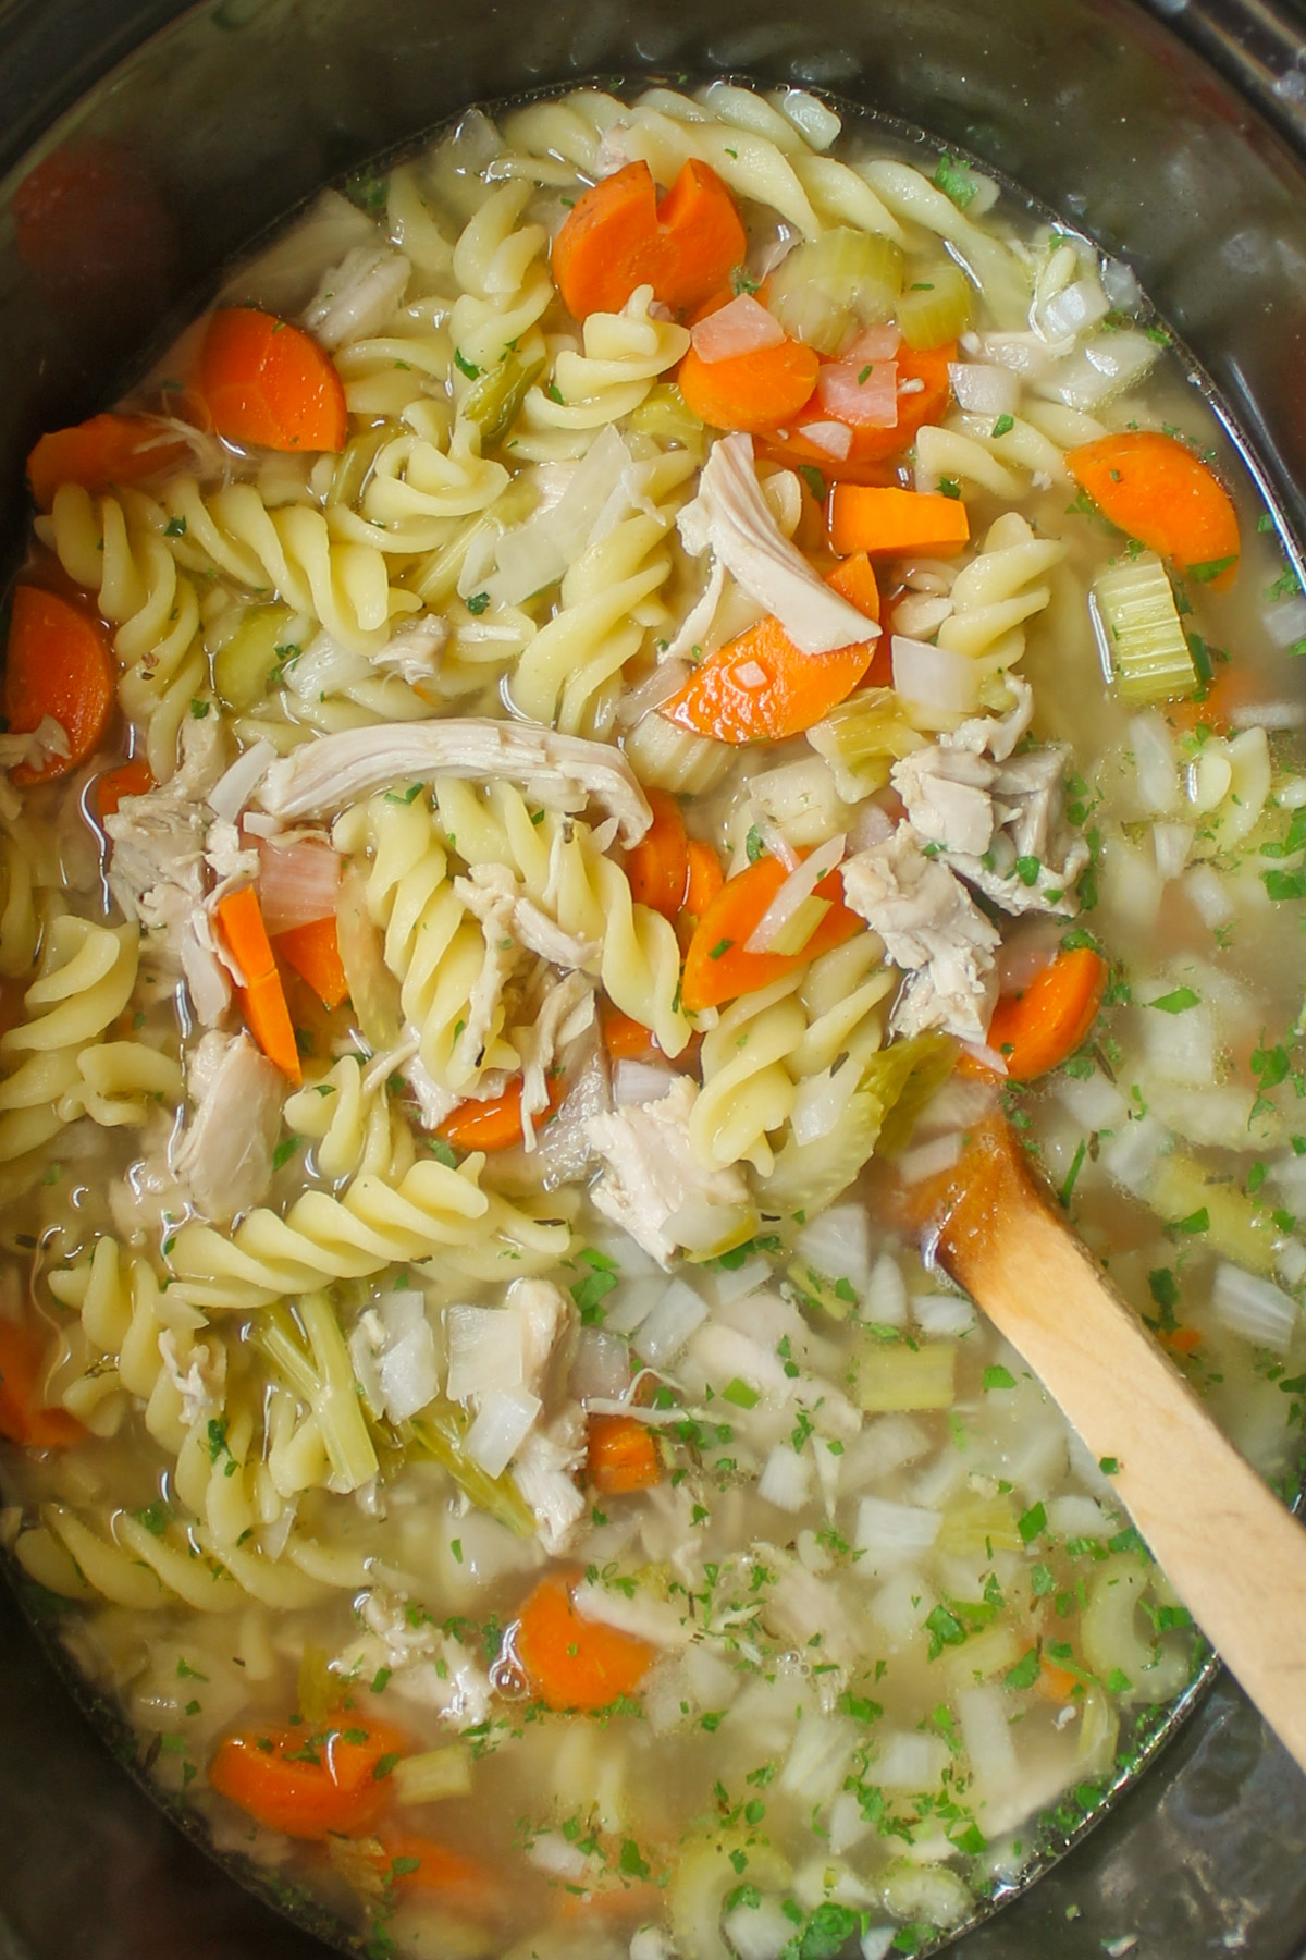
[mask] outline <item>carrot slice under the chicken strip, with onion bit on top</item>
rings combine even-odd
[[[695,666],[660,713],[695,735],[736,747],[785,741],[852,694],[873,655],[873,641],[856,641],[836,653],[803,653],[779,619],[760,619]]]

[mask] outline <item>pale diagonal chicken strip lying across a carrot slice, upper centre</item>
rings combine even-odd
[[[699,494],[676,523],[685,551],[699,559],[711,547],[744,592],[775,613],[803,653],[834,653],[836,647],[879,637],[879,627],[832,592],[775,523],[758,484],[750,435],[724,435],[713,443],[699,474]]]

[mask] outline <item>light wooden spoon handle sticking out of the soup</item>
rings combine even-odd
[[[920,1192],[920,1200],[916,1200]],[[1028,1360],[1220,1658],[1306,1770],[1306,1529],[1034,1184],[1001,1119],[912,1192],[926,1250]]]

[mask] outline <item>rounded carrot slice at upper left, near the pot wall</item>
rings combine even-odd
[[[349,433],[345,382],[300,327],[253,306],[213,314],[196,386],[217,435],[262,449],[341,451]]]

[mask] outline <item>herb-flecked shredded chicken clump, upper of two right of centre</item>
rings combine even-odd
[[[1008,715],[963,721],[954,735],[895,762],[891,780],[912,829],[948,853],[959,878],[1004,911],[1071,917],[1089,847],[1065,821],[1069,751],[1012,755],[1034,706],[1028,684],[1014,686]]]

